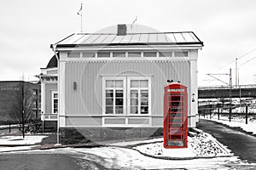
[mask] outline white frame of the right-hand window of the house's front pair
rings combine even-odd
[[[131,88],[131,80],[148,80],[148,88]],[[131,114],[131,90],[138,90],[138,113]],[[141,90],[148,90],[148,114],[141,114]],[[127,77],[127,115],[151,116],[151,77]]]

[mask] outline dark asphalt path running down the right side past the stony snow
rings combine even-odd
[[[199,129],[211,133],[213,137],[226,146],[241,160],[256,163],[256,137],[242,133],[236,128],[225,127],[217,122],[200,119]]]

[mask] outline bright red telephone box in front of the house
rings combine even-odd
[[[188,92],[187,87],[178,82],[165,87],[164,147],[188,147]]]

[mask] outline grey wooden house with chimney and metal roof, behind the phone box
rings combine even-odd
[[[48,121],[59,116],[64,139],[76,131],[88,139],[154,133],[163,127],[167,79],[188,87],[189,127],[196,126],[203,42],[192,31],[125,30],[73,34],[51,45],[59,61],[53,57],[41,70],[42,112]]]

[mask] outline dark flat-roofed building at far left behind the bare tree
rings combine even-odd
[[[24,100],[32,100],[32,118],[40,119],[40,85],[32,82],[3,81],[0,82],[0,123],[16,122],[11,112],[18,111],[14,107],[19,106],[22,87],[25,89]],[[30,96],[26,95],[28,93]]]

